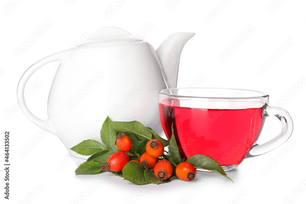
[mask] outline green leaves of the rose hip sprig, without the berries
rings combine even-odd
[[[101,170],[101,166],[111,154],[118,152],[116,146],[116,137],[117,133],[124,133],[129,136],[132,140],[132,148],[129,152],[126,152],[130,160],[138,160],[140,155],[146,151],[146,144],[151,139],[158,139],[162,142],[164,147],[168,147],[168,151],[161,156],[160,159],[166,159],[171,162],[173,167],[173,174],[167,180],[159,180],[155,177],[154,173],[150,169],[144,169],[137,162],[128,162],[122,171],[113,172],[108,171],[116,176],[123,177],[124,180],[128,180],[136,185],[145,185],[145,184],[165,184],[171,180],[177,178],[175,174],[176,166],[183,162],[185,158],[181,158],[177,143],[174,137],[174,131],[172,130],[172,136],[170,141],[160,137],[154,130],[151,128],[145,127],[138,121],[131,122],[118,122],[111,121],[110,117],[107,117],[102,125],[100,136],[101,142],[106,147],[103,148],[103,145],[98,141],[88,139],[72,147],[71,150],[75,151],[78,154],[90,156],[86,162],[82,163],[75,171],[76,175],[78,174],[98,174],[104,171]],[[214,159],[206,155],[193,155],[189,157],[187,162],[191,163],[193,166],[212,172],[216,172],[228,179],[230,179],[220,164]],[[231,180],[231,179],[230,179]],[[232,180],[231,180],[232,181]]]

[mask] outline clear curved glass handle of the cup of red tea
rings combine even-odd
[[[286,142],[291,136],[293,131],[293,121],[285,109],[266,105],[263,107],[262,117],[266,118],[269,116],[277,117],[281,121],[282,131],[276,137],[264,144],[259,145],[255,143],[248,151],[245,158],[256,157],[274,150],[276,147]]]

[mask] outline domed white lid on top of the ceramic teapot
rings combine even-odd
[[[77,47],[100,47],[144,41],[135,35],[117,27],[109,26],[97,30],[83,44]]]

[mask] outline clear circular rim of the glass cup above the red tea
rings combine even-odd
[[[190,95],[176,95],[176,94],[170,94],[170,93],[165,93],[166,91],[171,91],[171,90],[190,90],[190,89],[196,89],[196,90],[228,90],[228,91],[249,91],[249,92],[253,92],[253,93],[257,93],[258,95],[256,96],[251,96],[251,97],[205,97],[205,96],[190,96]],[[158,91],[158,94],[160,95],[165,95],[165,96],[169,96],[169,97],[175,97],[175,98],[202,98],[202,99],[207,99],[207,100],[254,100],[254,99],[263,99],[263,98],[268,98],[269,95],[261,92],[261,91],[253,91],[253,90],[248,90],[248,89],[233,89],[233,88],[202,88],[202,87],[195,87],[195,88],[167,88],[167,89],[162,89]]]

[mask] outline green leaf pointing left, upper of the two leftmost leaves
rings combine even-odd
[[[89,156],[91,154],[95,154],[99,151],[102,151],[103,146],[102,144],[93,139],[88,139],[72,147],[70,150],[73,150],[81,155]]]

